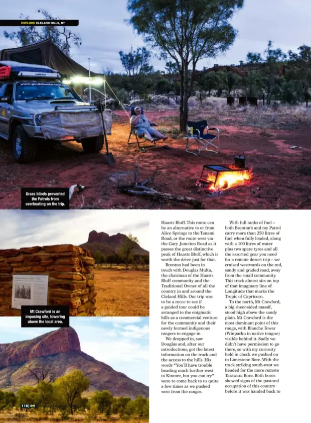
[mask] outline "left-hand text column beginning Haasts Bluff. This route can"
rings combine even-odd
[[[162,393],[200,394],[218,383],[207,334],[218,253],[214,222],[162,221]]]

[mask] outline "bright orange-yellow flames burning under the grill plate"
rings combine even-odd
[[[231,172],[219,172],[216,183],[214,183],[216,173],[212,170],[205,175],[206,181],[211,182],[208,187],[210,191],[223,191],[237,185],[244,185],[251,181],[253,176],[252,168],[239,170],[236,166],[231,164],[228,165],[228,167],[236,170]]]

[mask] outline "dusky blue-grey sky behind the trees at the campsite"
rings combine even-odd
[[[14,0],[6,2],[1,19],[19,19],[23,13],[37,20],[40,18],[36,13],[38,9],[46,9],[61,19],[79,19],[76,32],[82,37],[82,46],[79,51],[72,51],[73,59],[88,67],[90,57],[94,72],[106,68],[118,72],[122,70],[118,52],[128,52],[131,46],[134,49],[143,46],[142,39],[124,22],[129,18],[126,4],[127,0]],[[232,25],[239,31],[234,46],[216,61],[201,61],[198,68],[214,63],[238,64],[245,60],[249,51],[263,53],[268,40],[284,52],[295,51],[298,46],[310,43],[310,14],[310,0],[244,0],[243,10],[232,20]],[[15,47],[13,41],[5,39],[3,30],[12,32],[18,28],[0,28],[0,50]],[[152,58],[152,65],[164,70],[165,63]]]

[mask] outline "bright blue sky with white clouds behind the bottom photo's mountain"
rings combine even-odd
[[[148,318],[138,317],[70,319],[81,351],[147,386],[148,325]],[[0,344],[36,338],[47,332],[50,332],[47,328],[21,328],[21,319],[17,317],[0,317]]]

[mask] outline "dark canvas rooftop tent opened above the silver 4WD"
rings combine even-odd
[[[89,76],[88,69],[63,53],[51,38],[27,46],[0,51],[0,61],[12,60],[19,63],[49,66],[57,69],[67,77],[75,75]],[[98,74],[91,72],[91,76]]]

